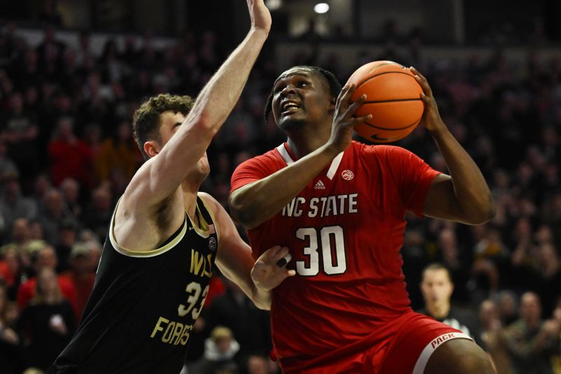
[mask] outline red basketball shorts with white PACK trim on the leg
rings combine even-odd
[[[452,339],[470,339],[460,330],[431,317],[407,312],[395,323],[396,333],[375,345],[337,361],[298,368],[283,367],[284,374],[423,374],[431,354]]]

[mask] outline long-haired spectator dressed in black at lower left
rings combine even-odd
[[[74,310],[62,296],[53,269],[43,268],[37,275],[34,298],[22,310],[18,328],[25,340],[27,367],[46,371],[76,328]]]

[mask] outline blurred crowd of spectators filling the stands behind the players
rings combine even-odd
[[[187,32],[168,48],[149,37],[128,36],[122,48],[108,39],[96,54],[88,32],[74,48],[53,27],[38,46],[17,31],[8,23],[0,34],[0,372],[41,373],[79,323],[114,205],[142,163],[134,110],[157,93],[196,95],[225,55],[212,32]],[[372,60],[427,76],[442,118],[492,188],[497,214],[475,227],[407,217],[412,308],[430,310],[440,298],[420,287],[425,267],[438,262],[454,283],[452,305],[470,319],[460,322],[499,373],[561,373],[561,53],[543,62],[529,52],[514,68],[497,50],[460,66],[426,59],[420,41],[403,41],[412,46],[403,55],[365,49],[317,60],[310,49],[295,51],[293,62],[330,69],[342,82]],[[343,58],[356,60],[353,69],[342,69]],[[208,149],[202,189],[226,208],[234,168],[285,140],[262,115],[282,68],[263,53]],[[423,128],[398,145],[446,172]],[[215,270],[184,373],[277,373],[270,349],[268,314]]]

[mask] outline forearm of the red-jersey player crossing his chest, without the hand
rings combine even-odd
[[[299,194],[339,151],[324,145],[290,166],[232,192],[231,215],[251,229],[269,220]]]

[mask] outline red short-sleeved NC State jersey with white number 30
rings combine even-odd
[[[242,163],[232,190],[294,162],[286,144]],[[273,290],[281,366],[303,367],[394,333],[409,310],[400,248],[405,211],[422,215],[438,172],[411,152],[351,142],[282,211],[248,230],[253,255],[287,246],[297,275]]]

